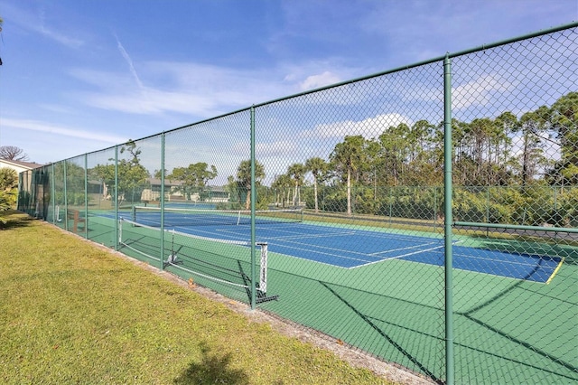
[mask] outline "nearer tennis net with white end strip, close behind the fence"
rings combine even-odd
[[[159,241],[164,237],[161,258],[165,267],[177,268],[197,277],[196,281],[210,288],[212,285],[236,287],[250,297],[251,264],[250,242],[214,239],[183,233],[176,230],[160,230],[154,226],[129,221],[119,221],[118,243],[139,257],[158,261]],[[257,303],[276,299],[266,296],[268,248],[266,242],[256,242],[258,277],[256,277]]]

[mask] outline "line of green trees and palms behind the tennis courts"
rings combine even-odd
[[[506,111],[471,122],[454,119],[452,141],[453,210],[462,221],[578,221],[578,92],[521,117]],[[117,165],[118,197],[127,199],[132,193],[133,200],[140,199],[138,191],[147,179],[160,178],[161,172],[144,168],[133,141],[120,153],[126,156]],[[266,169],[256,161],[257,205],[305,204],[313,211],[347,215],[431,218],[443,215],[443,161],[443,123],[419,120],[384,127],[376,137],[345,136],[325,158],[289,165],[270,186],[262,184]],[[114,186],[114,164],[98,164],[89,174]],[[172,189],[188,199],[192,193],[202,199],[217,175],[215,165],[202,162],[164,170],[165,181],[179,181]],[[248,209],[250,186],[251,162],[244,160],[224,186],[231,197],[228,206]]]

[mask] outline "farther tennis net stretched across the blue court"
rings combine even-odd
[[[164,216],[164,217],[163,217]],[[247,225],[251,223],[251,211],[248,210],[207,210],[158,207],[133,207],[133,218],[139,224],[164,226],[219,226]],[[292,223],[303,221],[303,210],[260,210],[255,212],[256,224]]]

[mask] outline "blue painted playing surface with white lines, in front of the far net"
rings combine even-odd
[[[172,226],[193,236],[225,240],[250,239],[248,225]],[[382,231],[354,230],[306,223],[256,226],[256,240],[269,251],[340,268],[360,268],[390,259],[443,266],[443,239]],[[559,257],[532,256],[489,249],[453,246],[453,267],[494,276],[548,282],[562,263]]]

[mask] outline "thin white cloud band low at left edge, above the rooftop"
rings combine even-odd
[[[2,127],[3,128],[14,128],[17,130],[28,130],[34,132],[42,132],[42,133],[49,133],[63,137],[74,137],[80,139],[87,139],[87,140],[94,140],[98,142],[102,142],[108,145],[116,145],[118,143],[125,143],[127,138],[122,136],[113,136],[107,134],[98,134],[91,131],[75,129],[70,127],[61,127],[61,126],[54,126],[49,123],[37,121],[37,120],[28,120],[28,119],[13,119],[13,118],[6,118],[2,119]]]

